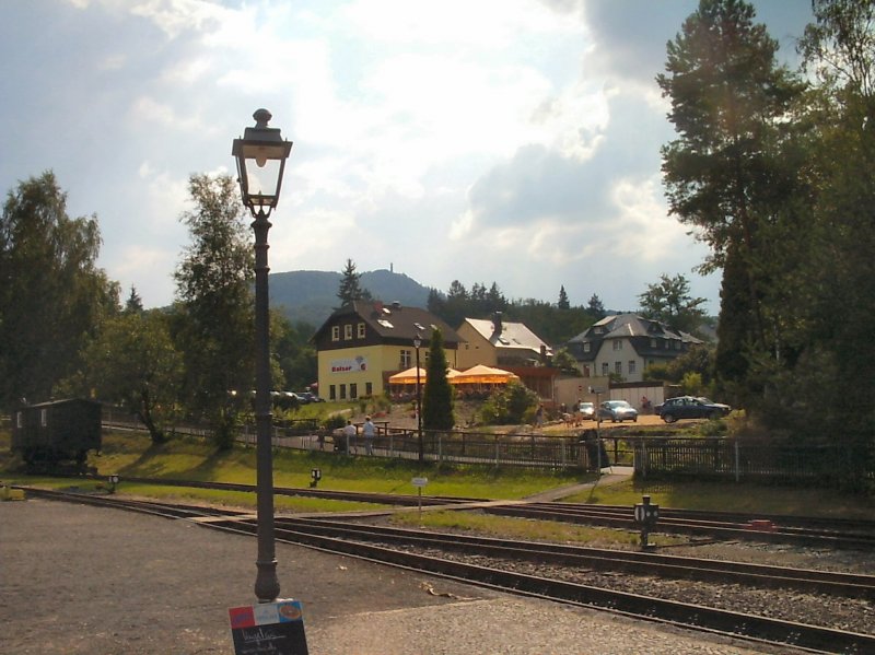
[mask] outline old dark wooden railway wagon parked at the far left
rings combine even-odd
[[[15,410],[12,452],[27,464],[85,463],[89,451],[101,449],[101,403],[72,398]]]

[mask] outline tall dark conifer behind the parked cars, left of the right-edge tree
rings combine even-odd
[[[657,75],[679,134],[662,150],[669,210],[710,246],[700,270],[725,266],[725,276],[731,267],[732,295],[746,294],[745,315],[722,307],[721,321],[732,314],[743,330],[728,332],[735,341],[721,348],[748,358],[773,352],[781,338],[763,311],[780,285],[770,266],[783,259],[774,256],[782,244],[774,235],[792,234],[784,222],[797,227],[789,209],[806,195],[790,156],[792,110],[804,85],[777,66],[778,43],[754,15],[740,0],[700,0],[668,43],[667,74]]]

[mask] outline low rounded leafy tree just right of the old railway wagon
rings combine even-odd
[[[183,359],[171,340],[165,314],[125,312],[104,321],[84,359],[89,387],[98,398],[133,413],[152,443],[167,441],[165,428],[175,414]]]

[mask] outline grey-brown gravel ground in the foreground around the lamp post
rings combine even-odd
[[[255,540],[116,510],[0,503],[0,653],[233,653]],[[798,653],[277,545],[313,655]]]

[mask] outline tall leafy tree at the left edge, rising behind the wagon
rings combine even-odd
[[[0,406],[48,400],[81,366],[118,284],[96,267],[96,217],[70,218],[55,174],[9,191],[0,218]]]

